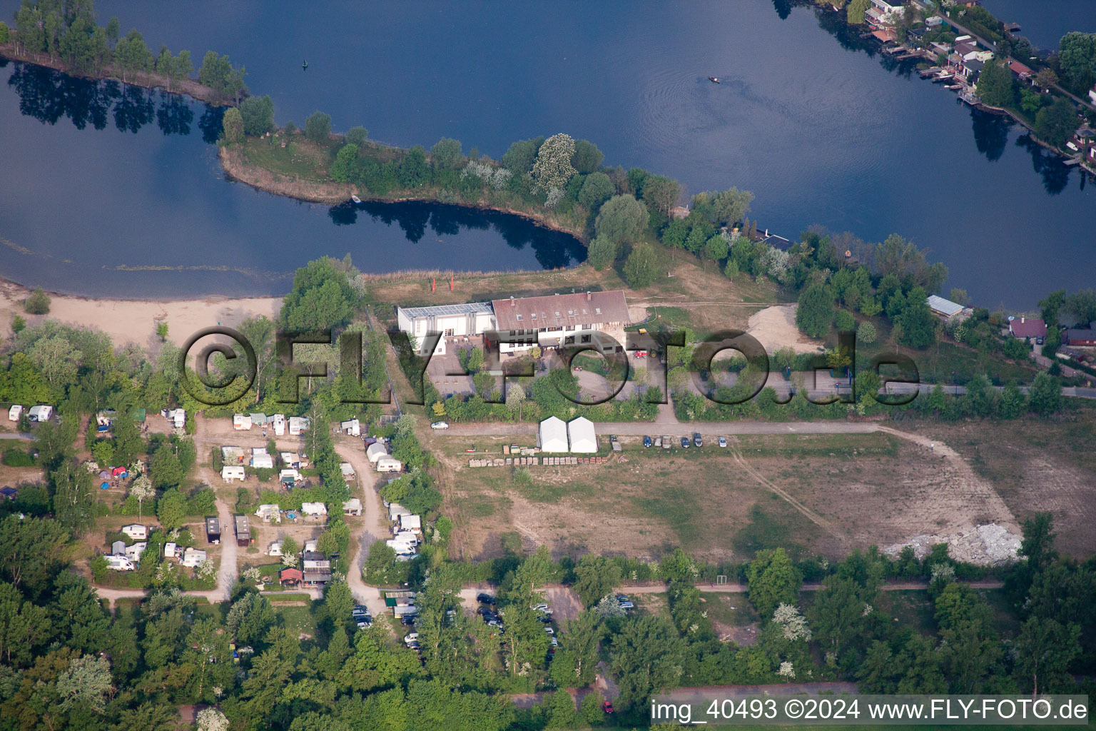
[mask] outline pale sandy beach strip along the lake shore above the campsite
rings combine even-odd
[[[168,323],[168,339],[182,345],[202,328],[218,322],[231,327],[256,315],[274,318],[282,307],[281,297],[230,298],[210,295],[196,299],[89,299],[50,295],[48,315],[27,315],[23,300],[30,294],[25,287],[11,282],[0,283],[0,333],[11,336],[12,317],[19,315],[28,324],[43,320],[57,320],[65,324],[102,330],[114,344],[136,343],[157,350],[160,339],[156,327]]]

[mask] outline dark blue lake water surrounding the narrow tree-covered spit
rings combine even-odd
[[[15,5],[0,1],[0,16]],[[964,287],[990,307],[1030,307],[1051,289],[1091,286],[1096,271],[1093,187],[1076,170],[909,67],[884,66],[855,35],[838,39],[832,15],[780,0],[98,7],[152,48],[229,54],[253,92],[271,94],[279,123],[322,110],[336,130],[361,124],[375,139],[427,147],[455,137],[493,157],[514,139],[567,132],[595,141],[607,164],[672,175],[689,193],[749,189],[751,218],[789,238],[812,224],[869,241],[900,232],[949,266],[945,292]],[[78,129],[21,114],[16,89],[0,90],[0,156],[20,172],[0,181],[0,237],[31,252],[7,248],[0,275],[92,295],[260,294],[286,290],[293,269],[323,253],[351,252],[377,272],[582,255],[530,225],[507,235],[476,218],[413,244],[397,210],[392,225],[367,210],[342,225],[339,210],[226,182],[201,105],[153,94],[153,121],[134,134],[123,129],[141,103],[121,96],[103,129]],[[179,106],[190,134],[164,134],[185,116]],[[403,216],[413,233],[423,215]]]

